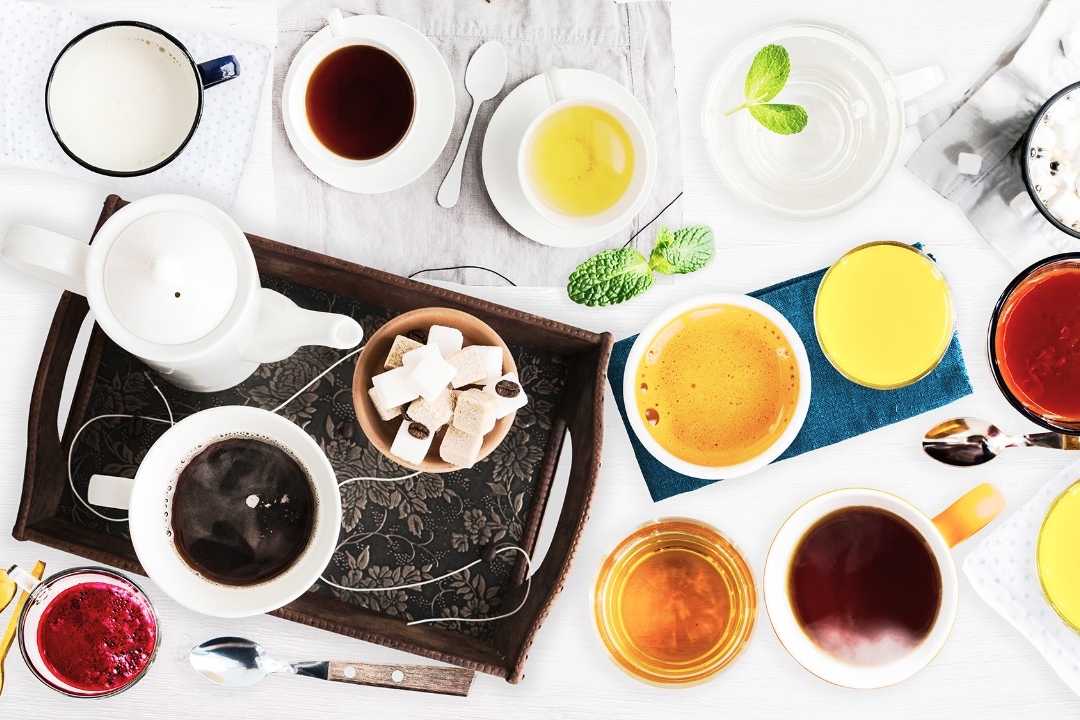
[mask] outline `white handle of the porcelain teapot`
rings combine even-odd
[[[17,270],[78,295],[86,295],[90,245],[30,225],[8,228],[0,257]]]

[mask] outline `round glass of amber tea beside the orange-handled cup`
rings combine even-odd
[[[666,684],[700,682],[730,663],[750,638],[756,597],[750,568],[723,535],[664,520],[611,553],[594,601],[616,662]]]

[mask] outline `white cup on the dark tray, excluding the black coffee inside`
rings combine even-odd
[[[180,472],[201,451],[232,437],[285,450],[307,474],[314,498],[307,545],[283,572],[251,585],[207,579],[184,559],[173,540],[171,513]],[[92,504],[127,508],[132,544],[150,579],[180,604],[219,617],[270,612],[307,592],[329,563],[341,526],[337,477],[315,440],[281,416],[244,406],[211,408],[180,420],[147,451],[134,479],[94,475],[89,499]],[[242,505],[238,513],[254,513],[252,504]]]

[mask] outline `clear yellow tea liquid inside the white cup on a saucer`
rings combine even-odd
[[[612,207],[634,176],[634,145],[611,113],[589,105],[556,110],[528,150],[537,194],[557,213],[598,215]]]

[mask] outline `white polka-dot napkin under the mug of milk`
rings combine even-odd
[[[86,28],[112,19],[132,18],[91,18],[50,5],[0,0],[0,164],[93,180],[131,199],[176,192],[230,207],[252,149],[269,49],[163,27],[195,63],[235,55],[240,77],[206,90],[199,128],[173,162],[138,177],[108,177],[80,166],[60,149],[45,116],[45,81],[64,45]]]

